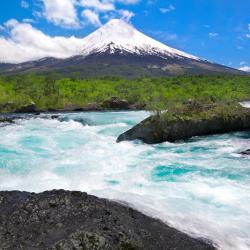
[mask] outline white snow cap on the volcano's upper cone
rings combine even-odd
[[[83,39],[83,55],[116,50],[138,55],[160,55],[161,57],[189,58],[200,60],[185,52],[173,49],[136,30],[121,19],[112,19]]]

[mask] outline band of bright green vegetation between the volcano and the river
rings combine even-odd
[[[63,109],[67,105],[101,103],[117,96],[147,109],[161,110],[190,99],[200,103],[250,100],[249,76],[179,76],[102,79],[61,78],[58,75],[18,75],[0,77],[0,111],[34,102],[39,109]]]

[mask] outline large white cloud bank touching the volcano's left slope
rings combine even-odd
[[[82,40],[72,37],[51,37],[29,23],[11,19],[5,23],[9,37],[0,36],[0,61],[20,63],[44,57],[67,58],[79,54]]]

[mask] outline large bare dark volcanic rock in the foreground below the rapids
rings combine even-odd
[[[215,249],[116,202],[64,190],[0,192],[0,249]]]

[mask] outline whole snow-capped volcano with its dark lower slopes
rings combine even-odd
[[[242,73],[168,47],[118,19],[85,37],[80,51],[73,57],[0,64],[0,72],[5,74],[51,71],[85,77]]]

